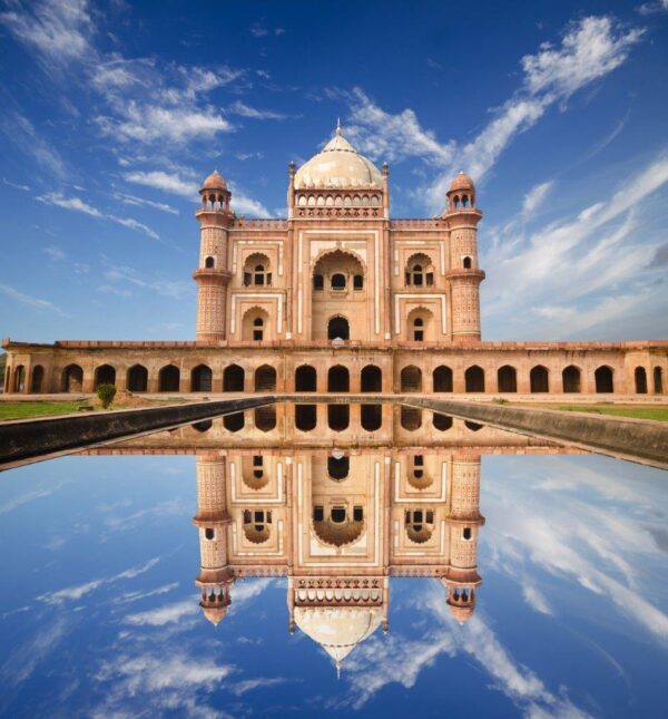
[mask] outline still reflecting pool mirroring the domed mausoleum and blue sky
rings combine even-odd
[[[666,716],[665,473],[163,435],[0,475],[3,716]]]

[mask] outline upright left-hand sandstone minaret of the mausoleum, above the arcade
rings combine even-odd
[[[215,171],[199,191],[202,205],[195,213],[199,222],[199,266],[197,282],[197,341],[225,339],[226,292],[232,273],[227,269],[227,229],[234,221],[229,208],[232,193]]]

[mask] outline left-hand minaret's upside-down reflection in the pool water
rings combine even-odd
[[[197,455],[197,515],[193,524],[199,529],[200,572],[195,581],[202,587],[199,606],[217,625],[230,604],[235,577],[227,555],[225,459],[216,451]]]

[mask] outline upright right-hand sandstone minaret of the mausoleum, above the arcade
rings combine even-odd
[[[478,266],[478,223],[482,212],[475,207],[473,181],[461,172],[448,191],[448,210],[442,215],[450,229],[452,288],[452,339],[480,340],[480,283],[484,272]]]

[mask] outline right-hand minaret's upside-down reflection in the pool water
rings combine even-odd
[[[443,575],[448,604],[458,622],[471,619],[475,606],[478,574],[478,528],[484,524],[480,514],[480,455],[455,454],[452,457],[450,513],[450,567]]]

